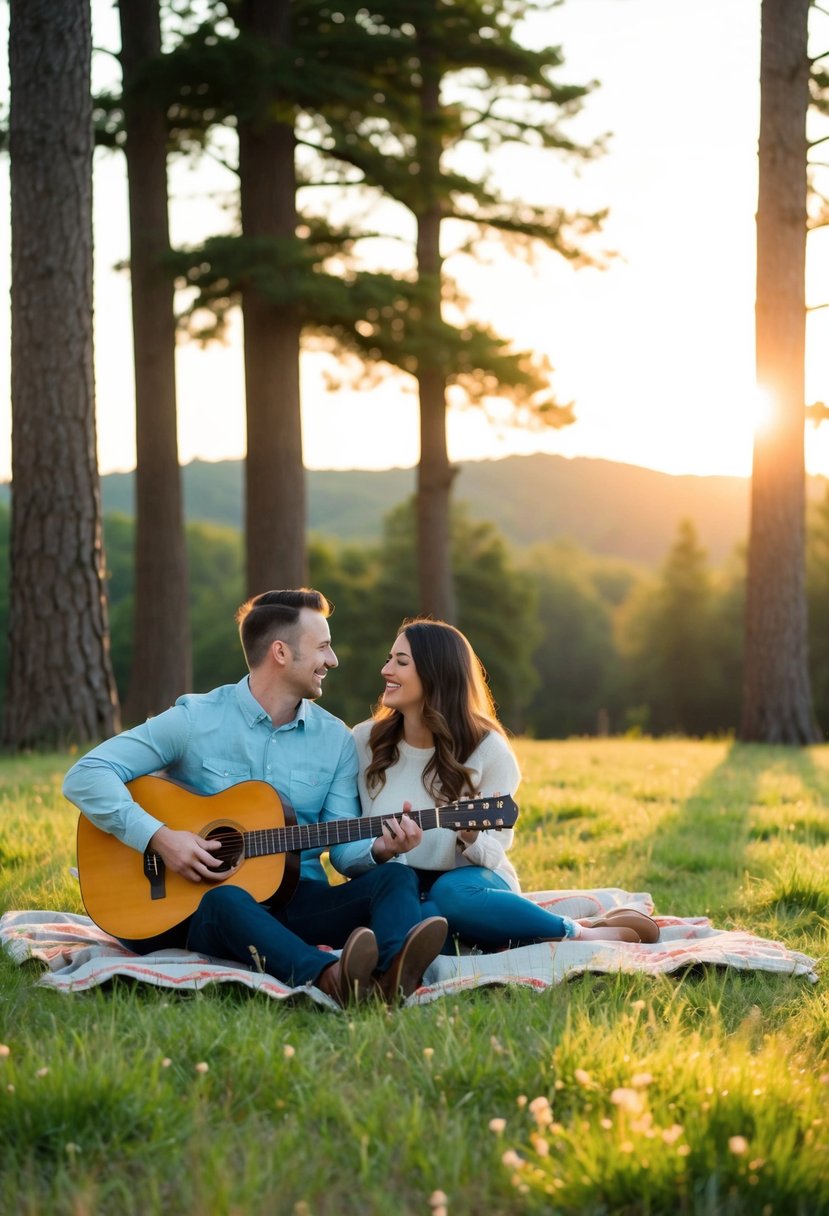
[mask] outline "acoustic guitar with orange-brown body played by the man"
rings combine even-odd
[[[297,823],[291,806],[264,781],[243,781],[219,794],[196,794],[165,777],[136,777],[126,788],[167,827],[219,840],[216,879],[227,874],[225,882],[242,886],[259,903],[288,902],[299,880],[303,849],[382,835],[383,824],[402,815]],[[498,795],[406,814],[424,831],[498,831],[515,823],[518,807],[508,795]],[[130,849],[85,815],[78,820],[78,873],[88,914],[115,938],[154,938],[173,929],[192,916],[213,885],[168,871],[159,854]]]

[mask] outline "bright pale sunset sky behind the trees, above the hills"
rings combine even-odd
[[[7,40],[7,5],[0,38]],[[829,46],[829,18],[813,36]],[[92,0],[96,46],[119,45],[111,0]],[[822,24],[819,24],[822,22]],[[754,274],[760,113],[760,0],[566,0],[534,18],[528,45],[560,45],[559,79],[598,80],[570,128],[609,133],[604,157],[576,170],[530,150],[498,167],[514,188],[569,208],[608,207],[596,249],[608,269],[574,270],[543,254],[535,266],[484,244],[484,264],[453,265],[478,320],[517,348],[546,354],[558,400],[576,422],[540,433],[487,421],[474,409],[447,420],[455,461],[546,451],[622,461],[667,473],[749,475],[757,409]],[[819,46],[824,49],[823,45]],[[2,56],[4,61],[6,56]],[[95,79],[113,60],[96,56]],[[4,62],[0,86],[7,92]],[[233,179],[214,163],[170,169],[173,243],[227,225]],[[0,164],[0,479],[11,474],[9,163]],[[447,233],[451,241],[451,231]],[[120,153],[95,161],[95,366],[102,473],[135,463],[126,181]],[[807,299],[829,303],[829,231],[810,236]],[[229,342],[177,351],[179,451],[244,455],[241,320]],[[301,362],[303,444],[309,468],[408,467],[418,458],[417,398],[402,375],[374,390],[326,388],[327,356]],[[807,322],[807,401],[829,396],[829,308]],[[497,415],[497,402],[496,415]],[[829,475],[829,424],[806,428],[806,463]]]

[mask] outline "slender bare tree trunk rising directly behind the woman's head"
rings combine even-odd
[[[440,223],[440,74],[428,35],[421,38],[421,120],[418,164],[422,207],[417,215],[417,274],[421,288],[423,355],[417,382],[421,402],[421,460],[417,468],[417,573],[421,612],[450,623],[457,620],[452,573],[451,492],[456,469],[446,447],[446,372],[432,361],[430,343],[441,325]]]

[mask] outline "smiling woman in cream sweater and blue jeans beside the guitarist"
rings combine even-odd
[[[518,762],[483,665],[459,630],[440,620],[404,621],[380,675],[385,688],[373,717],[354,728],[363,816],[514,794]],[[400,855],[384,833],[374,856],[418,871],[424,916],[449,921],[450,951],[453,938],[483,950],[563,938],[658,939],[655,923],[642,912],[617,910],[577,922],[524,899],[507,857],[512,843],[512,829],[434,828]]]

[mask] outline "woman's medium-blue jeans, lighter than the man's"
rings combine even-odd
[[[444,953],[455,953],[452,938],[459,938],[466,946],[500,950],[534,941],[559,941],[576,933],[569,917],[538,907],[483,866],[449,869],[424,890],[422,900],[424,917],[442,916],[449,921]]]

